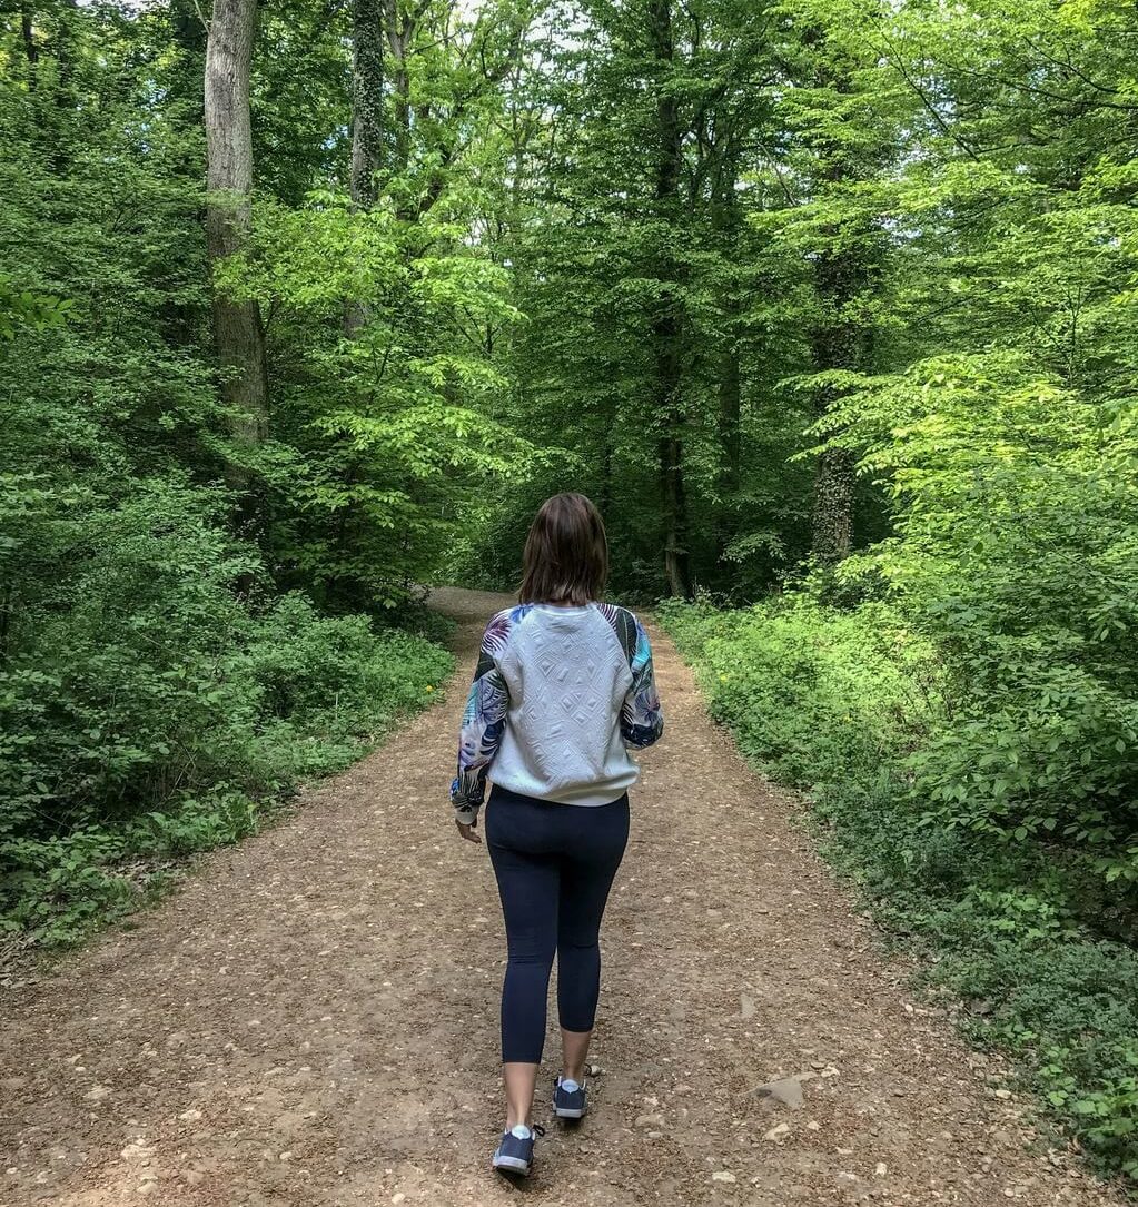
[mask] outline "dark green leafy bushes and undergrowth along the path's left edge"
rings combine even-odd
[[[257,562],[218,506],[146,483],[40,515],[83,555],[22,600],[0,670],[0,929],[78,938],[164,862],[235,841],[302,777],[345,766],[449,672],[410,632],[243,597]]]

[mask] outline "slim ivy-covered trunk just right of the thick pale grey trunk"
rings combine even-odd
[[[379,197],[384,136],[383,0],[352,0],[351,202],[369,210]],[[349,301],[344,331],[354,336],[368,319],[366,302]]]

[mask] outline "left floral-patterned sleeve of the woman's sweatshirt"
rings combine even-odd
[[[466,698],[462,729],[459,734],[459,771],[450,785],[450,803],[463,826],[478,820],[486,791],[486,771],[502,745],[509,693],[495,661],[504,648],[510,629],[524,614],[524,607],[507,608],[490,618],[483,634],[474,682]]]

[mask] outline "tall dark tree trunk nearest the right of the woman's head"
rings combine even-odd
[[[671,0],[650,0],[649,36],[661,75],[672,65]],[[659,217],[676,216],[683,146],[679,130],[679,105],[672,92],[656,82],[656,161],[655,200]],[[676,264],[665,251],[660,260],[659,280],[667,286],[677,279]],[[659,398],[660,506],[664,523],[664,583],[670,595],[691,594],[688,553],[688,505],[683,479],[683,427],[681,414],[683,315],[675,290],[660,291],[652,323],[655,344],[656,391]]]

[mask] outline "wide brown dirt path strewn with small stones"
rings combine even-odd
[[[602,940],[594,1112],[549,1127],[523,1190],[497,1180],[501,916],[445,793],[507,601],[437,602],[462,620],[445,707],[8,995],[4,1207],[1121,1202],[1033,1145],[998,1067],[906,999],[659,632],[667,735]],[[800,1109],[753,1092],[793,1074]]]

